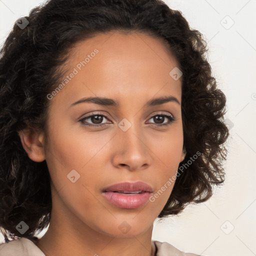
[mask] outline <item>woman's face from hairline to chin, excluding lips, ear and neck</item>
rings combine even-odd
[[[75,44],[68,77],[48,95],[44,144],[52,205],[69,221],[117,236],[152,225],[184,156],[181,79],[169,75],[174,67],[164,44],[142,33],[100,34]],[[111,100],[80,100],[88,97]],[[169,100],[152,101],[158,97]],[[130,208],[109,202],[103,189],[125,181],[148,184],[150,200]]]

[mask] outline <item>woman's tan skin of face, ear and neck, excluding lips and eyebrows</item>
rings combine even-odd
[[[94,48],[99,52],[50,99],[47,131],[19,133],[32,160],[46,159],[51,177],[51,220],[36,245],[46,256],[154,255],[153,221],[174,182],[154,202],[135,209],[112,205],[101,189],[140,180],[154,194],[176,174],[184,158],[181,79],[172,79],[169,72],[178,65],[159,39],[138,32],[114,32],[76,43],[65,65],[67,74]],[[169,95],[179,103],[145,106],[153,97]],[[84,102],[70,107],[88,96],[116,99],[120,106]],[[104,126],[78,121],[96,112],[107,114],[101,121]],[[175,120],[158,127],[157,123],[168,123],[168,118],[157,122],[152,117],[168,113]],[[117,125],[123,118],[131,123],[126,131]],[[90,117],[84,123],[97,125],[96,120]],[[80,175],[74,183],[67,178],[72,169]],[[118,228],[123,221],[130,227],[126,233]]]

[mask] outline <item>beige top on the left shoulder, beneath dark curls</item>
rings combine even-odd
[[[20,238],[0,244],[0,256],[45,256],[29,239]]]

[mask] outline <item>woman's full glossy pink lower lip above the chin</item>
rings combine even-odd
[[[111,202],[119,208],[134,209],[143,205],[148,201],[151,192],[143,192],[138,194],[123,194],[112,191],[103,192],[107,201]]]

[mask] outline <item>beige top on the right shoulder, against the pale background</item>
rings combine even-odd
[[[170,255],[170,253],[171,256],[199,256],[198,254],[180,251],[168,242],[152,240],[152,243],[155,245],[156,248],[155,256],[168,256]]]

